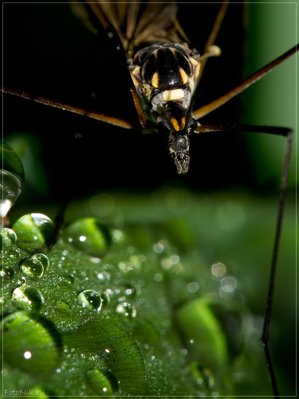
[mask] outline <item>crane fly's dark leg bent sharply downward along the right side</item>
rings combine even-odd
[[[270,272],[268,300],[267,300],[266,314],[265,314],[265,319],[264,319],[263,335],[261,338],[261,341],[263,342],[263,346],[265,349],[265,355],[266,355],[267,365],[269,368],[270,378],[271,378],[271,382],[272,382],[273,393],[274,393],[275,398],[279,398],[278,387],[277,387],[277,383],[276,383],[275,372],[274,372],[272,361],[271,361],[268,342],[269,342],[270,326],[271,326],[271,315],[272,315],[273,294],[274,294],[278,250],[279,250],[279,243],[280,243],[280,237],[281,237],[281,232],[282,232],[283,216],[284,216],[284,209],[285,209],[285,199],[286,199],[286,191],[287,191],[287,181],[288,181],[290,161],[291,161],[293,131],[288,128],[271,127],[271,126],[223,125],[223,126],[198,126],[196,128],[196,133],[232,131],[232,130],[238,130],[238,131],[244,131],[244,132],[278,134],[278,135],[287,137],[287,149],[286,149],[285,163],[284,163],[283,176],[282,176],[282,182],[281,182],[281,188],[280,188],[279,210],[278,210],[278,219],[277,219],[277,226],[276,226],[276,233],[275,233],[271,272]]]

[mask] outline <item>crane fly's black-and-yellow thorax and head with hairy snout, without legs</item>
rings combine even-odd
[[[188,171],[188,136],[197,126],[188,109],[199,75],[198,59],[198,52],[187,45],[156,42],[129,60],[142,107],[158,132],[168,135],[178,173]]]

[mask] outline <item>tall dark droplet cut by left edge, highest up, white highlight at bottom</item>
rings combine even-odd
[[[0,217],[5,217],[22,191],[24,168],[17,154],[6,144],[0,144],[0,153]]]

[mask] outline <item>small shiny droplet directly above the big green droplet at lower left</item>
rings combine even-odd
[[[14,289],[11,299],[18,309],[32,309],[39,311],[43,305],[43,297],[35,288],[23,285]]]

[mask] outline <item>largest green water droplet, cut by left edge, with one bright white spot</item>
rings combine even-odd
[[[3,329],[3,330],[2,330]],[[48,378],[57,366],[61,339],[53,323],[41,315],[17,311],[1,322],[3,357],[12,369]]]

